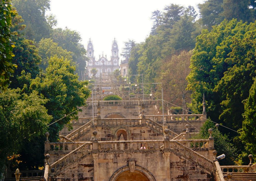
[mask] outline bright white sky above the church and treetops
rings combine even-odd
[[[57,28],[76,30],[87,49],[91,38],[95,59],[99,54],[111,56],[114,37],[118,42],[119,55],[128,38],[136,43],[143,42],[150,34],[154,10],[162,10],[171,3],[183,6],[197,4],[204,0],[51,0],[51,10],[58,20]],[[122,57],[121,57],[122,58]]]

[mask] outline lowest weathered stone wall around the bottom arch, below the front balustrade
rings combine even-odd
[[[114,181],[121,180],[122,175],[128,180],[138,175],[157,181],[214,180],[213,175],[195,161],[163,150],[95,150],[61,173],[52,173],[52,180]]]

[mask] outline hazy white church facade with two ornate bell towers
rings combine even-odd
[[[95,60],[94,56],[94,49],[91,42],[91,39],[88,42],[87,46],[87,57],[89,58],[89,62],[87,64],[87,73],[89,77],[93,76],[91,73],[91,70],[95,68],[97,70],[96,77],[100,75],[108,75],[112,72],[114,72],[116,69],[119,70],[119,56],[118,56],[118,45],[116,40],[114,39],[112,43],[112,49],[110,57],[110,60],[107,59],[106,55],[105,57],[100,55],[98,60]]]

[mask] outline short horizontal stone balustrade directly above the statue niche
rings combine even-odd
[[[138,125],[139,118],[105,118],[101,120],[102,125]]]

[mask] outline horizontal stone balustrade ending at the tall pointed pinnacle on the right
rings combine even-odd
[[[166,121],[198,121],[202,120],[203,114],[173,114],[164,115]],[[145,115],[154,121],[163,122],[163,115]]]

